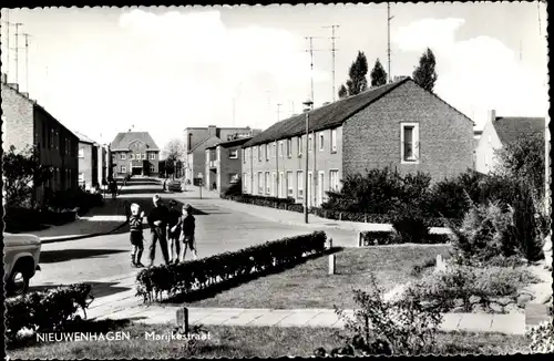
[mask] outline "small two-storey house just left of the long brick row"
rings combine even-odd
[[[249,140],[252,137],[237,137],[206,148],[206,169],[204,174],[208,189],[224,194],[230,185],[240,179],[243,155],[240,146]]]

